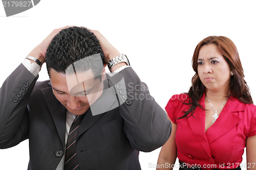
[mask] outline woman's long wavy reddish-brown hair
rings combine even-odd
[[[239,58],[238,50],[236,45],[227,37],[224,36],[209,36],[203,39],[196,46],[194,55],[192,58],[192,66],[196,74],[193,76],[191,82],[192,85],[188,91],[188,101],[184,104],[190,105],[188,111],[184,111],[184,115],[180,118],[190,117],[196,110],[196,107],[201,107],[199,105],[199,100],[202,98],[205,92],[205,86],[201,82],[198,76],[198,55],[201,47],[206,44],[215,44],[218,47],[219,52],[222,54],[225,61],[228,63],[230,70],[233,72],[233,76],[230,77],[228,86],[228,97],[235,96],[241,102],[253,103],[250,95],[249,87],[244,80],[243,67]],[[202,107],[201,107],[202,108]],[[187,116],[189,113],[191,115]]]

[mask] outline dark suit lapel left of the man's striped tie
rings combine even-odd
[[[44,95],[46,104],[52,115],[55,127],[61,139],[63,146],[65,146],[66,133],[66,108],[55,98],[52,87],[41,89]]]

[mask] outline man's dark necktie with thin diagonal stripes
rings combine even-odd
[[[83,115],[76,116],[69,130],[68,141],[66,145],[65,164],[64,164],[65,170],[79,169],[79,163],[76,155],[76,136],[77,136],[80,124],[82,122],[82,118],[83,118]]]

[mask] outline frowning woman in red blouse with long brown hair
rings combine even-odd
[[[165,107],[173,128],[157,169],[173,169],[177,157],[180,169],[256,169],[256,106],[236,46],[227,37],[207,37],[192,63],[188,93],[172,96]]]

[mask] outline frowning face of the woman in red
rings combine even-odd
[[[198,76],[208,90],[227,90],[230,68],[217,45],[207,44],[201,47],[198,55]]]

